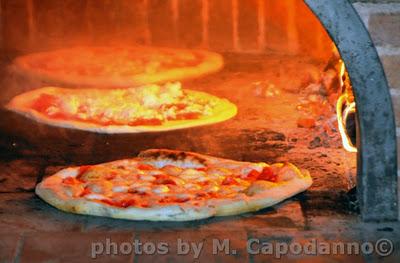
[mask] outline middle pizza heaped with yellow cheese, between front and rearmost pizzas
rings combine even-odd
[[[99,133],[189,128],[237,113],[227,99],[182,89],[180,83],[119,89],[44,87],[14,97],[6,108],[49,125]]]

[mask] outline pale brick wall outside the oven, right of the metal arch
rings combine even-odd
[[[400,0],[357,1],[354,7],[374,41],[390,86],[396,116],[400,168]],[[400,176],[400,170],[399,170]]]

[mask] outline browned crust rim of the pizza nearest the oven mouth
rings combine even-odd
[[[264,163],[238,162],[191,152],[159,149],[144,151],[139,154],[138,158],[132,160],[152,164],[155,167],[163,167],[168,164],[183,168],[213,166],[227,169],[238,167],[252,169],[257,165],[266,166]],[[127,160],[99,166],[120,165],[124,162]],[[300,193],[312,184],[312,179],[307,171],[300,171],[290,163],[274,164],[272,167],[278,174],[277,182],[257,180],[244,191],[237,192],[235,196],[205,199],[201,202],[189,200],[184,203],[160,204],[148,208],[135,206],[119,208],[82,197],[71,197],[61,182],[63,178],[76,176],[78,167],[61,170],[46,178],[38,184],[36,193],[49,204],[72,213],[130,220],[189,221],[258,211]]]

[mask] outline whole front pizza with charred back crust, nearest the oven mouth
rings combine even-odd
[[[39,183],[36,194],[72,213],[189,221],[257,211],[311,184],[309,173],[290,163],[153,149],[132,159],[61,170]]]

